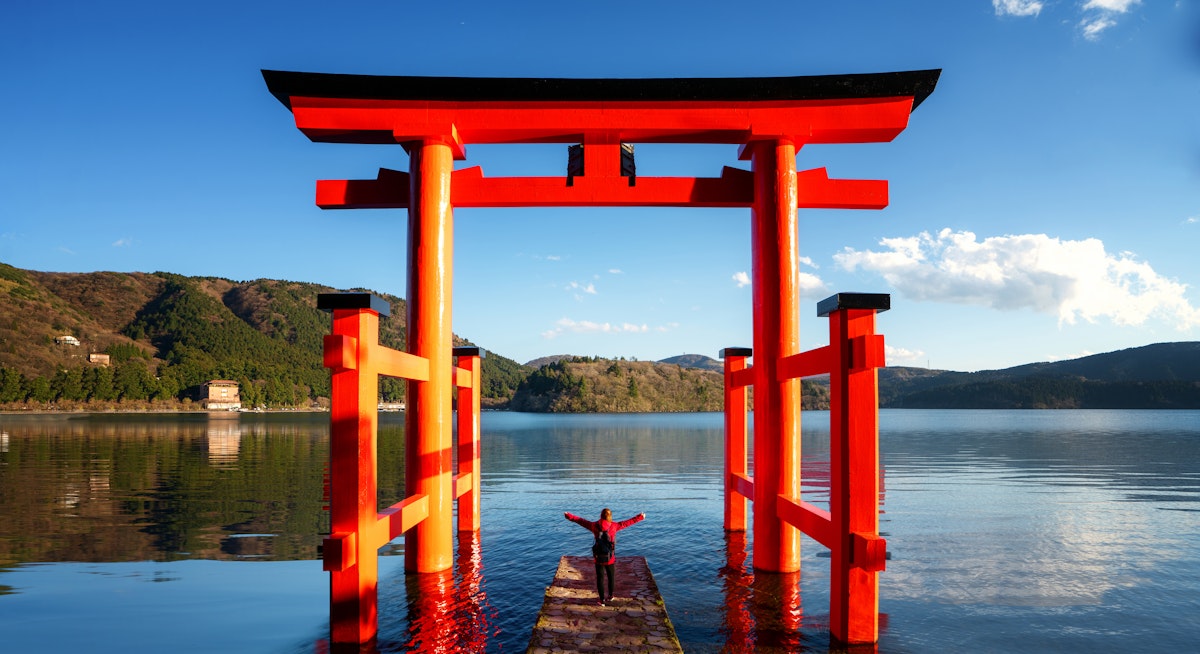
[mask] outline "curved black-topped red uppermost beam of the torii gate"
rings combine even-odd
[[[941,71],[674,79],[398,77],[263,71],[310,139],[736,143],[895,138]]]

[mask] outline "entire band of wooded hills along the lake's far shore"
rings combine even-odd
[[[319,284],[169,272],[35,272],[0,264],[0,408],[188,408],[199,385],[233,379],[242,406],[320,406],[329,396]],[[406,305],[379,341],[404,348]],[[55,338],[72,336],[79,346]],[[455,344],[469,344],[455,337]],[[110,366],[88,362],[104,353]],[[721,410],[721,362],[546,356],[529,365],[487,353],[484,404],[528,412]],[[883,408],[1200,408],[1200,342],[1157,343],[998,371],[880,370]],[[380,380],[380,400],[404,383]],[[752,391],[751,391],[752,396]],[[828,408],[827,379],[804,380],[805,409]]]

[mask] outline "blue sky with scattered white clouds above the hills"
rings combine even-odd
[[[406,169],[313,144],[260,68],[767,77],[942,68],[894,142],[799,169],[886,179],[882,211],[799,215],[816,302],[890,293],[890,365],[986,370],[1200,336],[1200,7],[1176,0],[19,2],[0,10],[0,262],[404,294],[403,211],[322,211],[317,179]],[[564,145],[468,146],[488,175]],[[745,167],[638,145],[640,175]],[[749,346],[746,210],[455,212],[454,329],[527,361]]]

